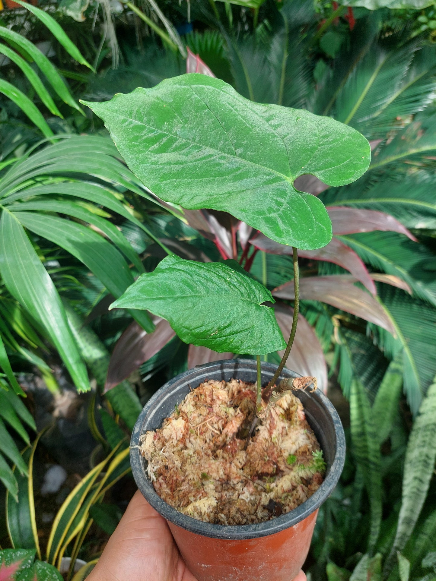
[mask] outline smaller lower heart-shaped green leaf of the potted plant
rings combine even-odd
[[[112,303],[113,307],[147,309],[166,319],[185,343],[219,353],[265,354],[286,343],[269,290],[248,277],[234,261],[199,263],[167,256]]]

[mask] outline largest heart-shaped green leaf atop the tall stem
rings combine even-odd
[[[108,127],[133,173],[159,198],[228,211],[273,240],[315,249],[331,239],[320,201],[299,175],[328,185],[358,179],[370,146],[329,117],[238,95],[217,78],[186,74],[151,89],[83,102]]]

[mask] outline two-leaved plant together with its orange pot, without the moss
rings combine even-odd
[[[169,522],[181,554],[200,581],[291,579],[308,552],[317,508],[337,483],[344,462],[342,427],[323,394],[302,390],[298,397],[324,453],[326,476],[295,510],[271,514],[274,518],[263,522],[216,524],[176,510],[156,494],[140,446],[144,433],[158,429],[174,407],[177,413],[190,389],[206,379],[255,384],[255,418],[246,437],[250,444],[253,426],[262,426],[273,401],[290,389],[314,390],[315,378],[298,378],[284,365],[298,321],[297,249],[326,245],[331,223],[320,200],[293,184],[303,174],[331,186],[358,179],[370,162],[369,143],[333,119],[253,103],[223,81],[200,74],[118,94],[106,103],[84,104],[103,119],[130,169],[154,195],[185,209],[227,211],[292,246],[295,303],[287,343],[271,308],[271,293],[234,260],[198,263],[167,256],[112,305],[165,318],[187,343],[256,356],[256,362],[206,364],[163,386],[135,426],[131,464],[138,487]],[[277,368],[261,364],[263,354],[281,349],[285,353]]]

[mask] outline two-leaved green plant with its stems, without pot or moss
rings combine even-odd
[[[369,166],[369,143],[330,117],[255,103],[223,81],[195,73],[106,103],[83,103],[101,117],[131,171],[160,199],[185,209],[226,211],[292,247],[295,307],[287,344],[265,304],[274,302],[271,293],[233,260],[167,256],[112,304],[165,318],[193,345],[256,355],[260,414],[260,356],[286,347],[267,394],[295,336],[297,249],[321,248],[332,236],[323,203],[298,191],[294,181],[303,174],[330,186],[357,180]]]

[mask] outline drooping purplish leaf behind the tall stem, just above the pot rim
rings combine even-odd
[[[278,326],[285,340],[287,340],[291,333],[294,309],[283,304],[278,305],[274,309],[274,312],[276,313]],[[284,351],[279,351],[278,353],[282,357]],[[298,326],[296,328],[294,344],[292,345],[286,367],[301,375],[316,377],[318,388],[323,393],[327,392],[327,365],[323,349],[315,332],[302,314],[298,315]]]

